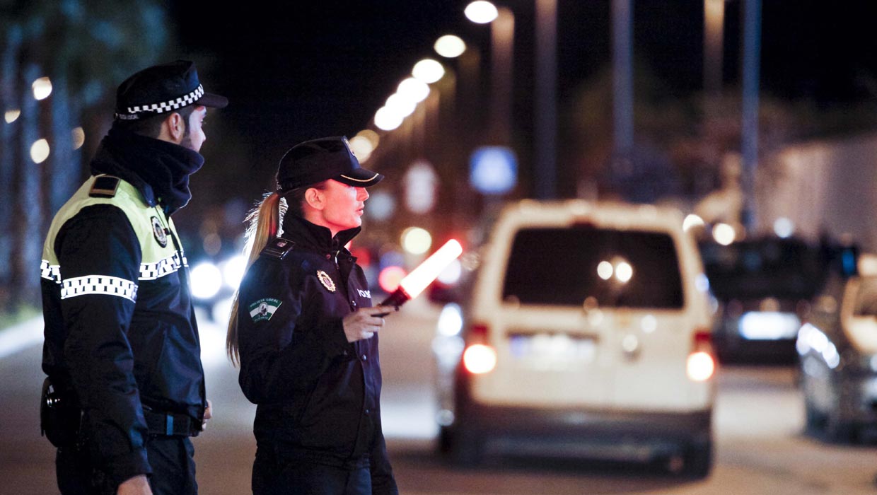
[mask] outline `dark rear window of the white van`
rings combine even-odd
[[[673,238],[591,225],[519,230],[511,246],[503,300],[521,304],[681,308]]]

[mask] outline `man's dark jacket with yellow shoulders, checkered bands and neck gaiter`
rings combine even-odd
[[[91,163],[96,175],[46,237],[42,367],[75,391],[89,453],[116,483],[151,472],[145,411],[193,428],[203,420],[188,269],[168,214],[189,201],[180,178],[202,164],[182,146],[113,130]]]

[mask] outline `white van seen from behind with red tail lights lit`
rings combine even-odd
[[[708,284],[674,210],[511,204],[470,252],[433,341],[439,446],[713,463]]]

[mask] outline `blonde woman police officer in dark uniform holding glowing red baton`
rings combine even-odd
[[[250,266],[229,323],[239,384],[257,404],[253,493],[398,493],[381,431],[381,313],[345,245],[366,187],[346,138],[293,146],[253,212]],[[285,213],[282,213],[285,212]]]

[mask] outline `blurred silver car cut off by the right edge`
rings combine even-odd
[[[797,338],[806,427],[833,442],[877,438],[877,257],[831,272]]]

